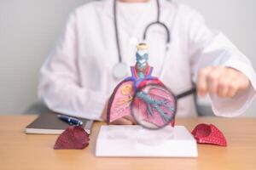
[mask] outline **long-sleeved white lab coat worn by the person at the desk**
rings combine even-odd
[[[166,31],[148,31],[149,65],[153,76],[174,94],[192,88],[197,72],[207,65],[226,65],[243,72],[251,81],[246,92],[232,99],[211,94],[217,116],[238,116],[252,102],[256,77],[250,61],[221,32],[211,31],[193,8],[160,0],[160,20],[168,26],[172,42],[166,52]],[[143,40],[148,23],[156,20],[155,1],[118,3],[118,26],[123,61],[134,65],[136,42]],[[72,116],[99,120],[113,88],[113,66],[119,62],[113,26],[113,0],[87,3],[76,8],[55,51],[40,71],[38,94],[49,109]],[[193,96],[180,99],[177,116],[196,116]]]

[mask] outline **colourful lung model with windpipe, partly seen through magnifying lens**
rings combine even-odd
[[[148,65],[148,47],[137,45],[137,63],[131,66],[131,77],[126,77],[113,90],[108,101],[108,123],[131,115],[143,127],[158,129],[174,126],[176,98]]]

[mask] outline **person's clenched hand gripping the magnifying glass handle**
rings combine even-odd
[[[232,98],[245,91],[249,85],[249,79],[241,71],[225,66],[208,66],[201,69],[196,84],[200,96],[212,93],[221,98]]]

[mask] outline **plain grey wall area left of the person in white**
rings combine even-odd
[[[19,114],[37,100],[38,70],[86,0],[0,1],[0,114]]]

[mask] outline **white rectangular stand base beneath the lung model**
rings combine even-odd
[[[96,156],[197,157],[197,144],[183,127],[148,130],[140,126],[102,126]]]

